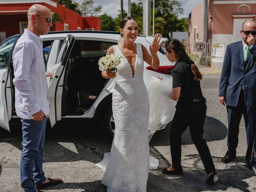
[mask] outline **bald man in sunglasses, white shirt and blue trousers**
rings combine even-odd
[[[15,109],[22,122],[20,178],[24,192],[41,192],[42,188],[62,182],[61,179],[46,178],[42,170],[42,149],[50,103],[40,35],[47,34],[51,26],[50,10],[40,4],[31,6],[28,28],[18,39],[12,56]]]

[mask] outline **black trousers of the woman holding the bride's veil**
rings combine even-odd
[[[190,136],[198,150],[206,173],[215,172],[210,150],[203,139],[205,117],[205,101],[176,105],[176,112],[170,129],[172,167],[174,169],[178,169],[181,166],[181,136],[189,126]]]

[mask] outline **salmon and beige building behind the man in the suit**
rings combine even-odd
[[[189,18],[190,44],[210,42],[210,56],[219,68],[226,45],[242,40],[242,23],[245,20],[256,21],[256,0],[203,0],[192,10]],[[190,46],[191,52],[197,50]]]

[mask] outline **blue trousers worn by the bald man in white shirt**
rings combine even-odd
[[[22,153],[20,157],[21,186],[25,192],[36,192],[35,185],[42,184],[44,176],[43,154],[46,118],[42,121],[21,119]]]

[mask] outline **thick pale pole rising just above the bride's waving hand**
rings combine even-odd
[[[143,0],[143,33],[150,35],[150,0]]]

